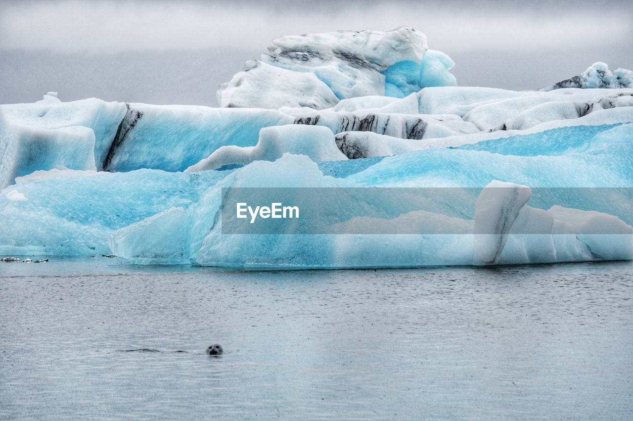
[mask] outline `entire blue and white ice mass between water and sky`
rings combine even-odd
[[[631,72],[596,63],[508,91],[458,87],[451,66],[411,28],[339,31],[276,39],[220,87],[220,108],[56,92],[0,105],[0,253],[286,268],[633,259]],[[224,200],[243,187],[306,188],[323,234],[230,225]],[[367,193],[328,193],[348,188]]]

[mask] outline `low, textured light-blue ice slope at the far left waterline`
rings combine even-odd
[[[110,254],[112,232],[172,207],[188,208],[225,175],[51,170],[20,177],[0,191],[0,254]]]

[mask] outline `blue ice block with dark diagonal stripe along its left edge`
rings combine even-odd
[[[220,146],[255,146],[264,127],[293,121],[273,110],[128,104],[102,165],[108,171],[182,171]]]

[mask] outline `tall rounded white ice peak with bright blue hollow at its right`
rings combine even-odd
[[[422,32],[341,30],[273,40],[261,61],[218,88],[222,107],[330,108],[341,99],[404,97],[427,86],[454,86],[453,61],[429,50]]]

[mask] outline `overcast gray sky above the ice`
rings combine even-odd
[[[459,85],[532,89],[595,61],[633,69],[628,1],[0,0],[0,103],[216,106],[215,90],[284,34],[337,29],[427,35]]]

